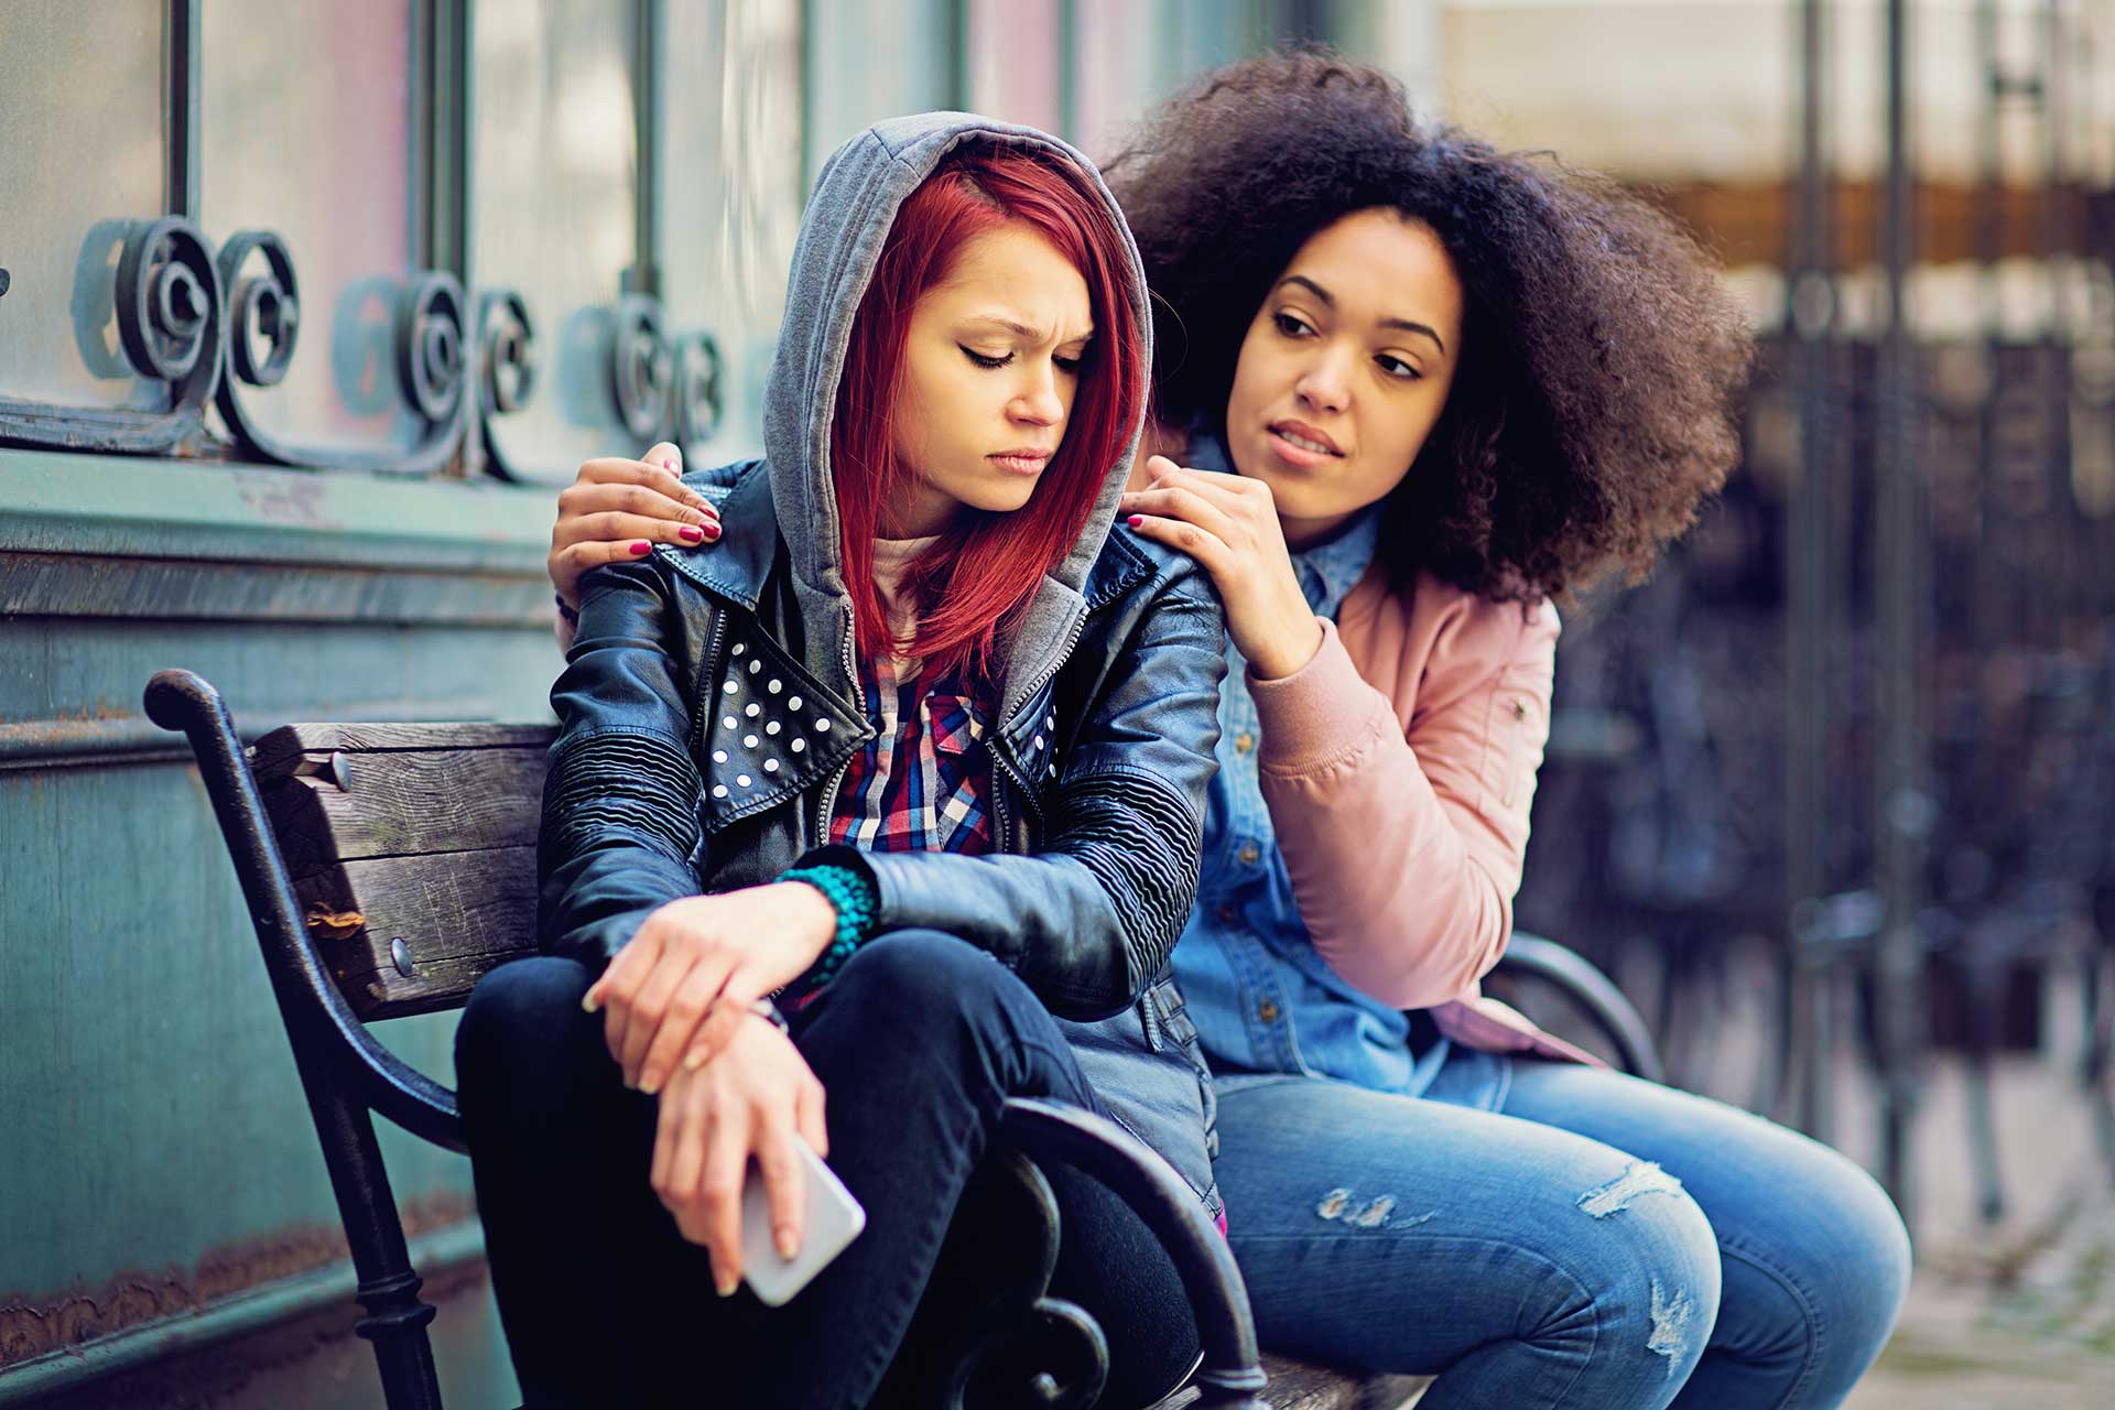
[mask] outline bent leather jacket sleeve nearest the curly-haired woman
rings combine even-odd
[[[1060,1017],[1119,1013],[1167,964],[1197,896],[1225,662],[1218,598],[1184,569],[1157,588],[1087,704],[1064,774],[1045,791],[1036,854],[833,846],[804,865],[863,867],[882,930],[958,934]]]

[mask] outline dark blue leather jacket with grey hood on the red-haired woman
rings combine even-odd
[[[880,930],[945,930],[1015,970],[1110,1112],[1218,1213],[1210,1078],[1167,956],[1197,888],[1225,632],[1191,558],[1108,537],[1129,450],[1000,643],[986,736],[998,852],[825,846],[846,765],[873,738],[838,562],[835,383],[880,235],[969,135],[1041,144],[1091,171],[1030,129],[958,114],[886,123],[842,148],[802,224],[766,459],[689,478],[721,501],[723,539],[582,579],[552,689],[539,930],[546,949],[601,968],[666,901],[804,862],[861,867]]]

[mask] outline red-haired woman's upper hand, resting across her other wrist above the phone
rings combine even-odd
[[[749,1004],[799,979],[838,932],[838,911],[804,882],[683,896],[656,909],[588,987],[626,1087],[658,1093],[711,1061]]]

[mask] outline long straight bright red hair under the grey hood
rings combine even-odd
[[[1087,281],[1096,336],[1079,370],[1064,440],[1028,503],[967,512],[912,564],[918,634],[905,647],[943,670],[986,679],[994,643],[1043,575],[1079,541],[1102,480],[1138,431],[1146,400],[1144,338],[1129,254],[1106,199],[1074,163],[1017,148],[950,154],[897,211],[844,355],[829,431],[831,482],[844,535],[844,583],[865,660],[899,649],[873,586],[882,505],[909,499],[918,469],[897,452],[903,347],[918,296],[948,277],[962,245],[1007,224],[1043,235]]]

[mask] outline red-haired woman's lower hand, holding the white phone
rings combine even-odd
[[[829,1154],[823,1084],[776,1025],[744,1015],[728,1049],[677,1072],[660,1093],[649,1182],[675,1226],[713,1260],[721,1296],[742,1277],[742,1182],[764,1171],[772,1239],[785,1258],[802,1243],[806,1173],[793,1142]]]

